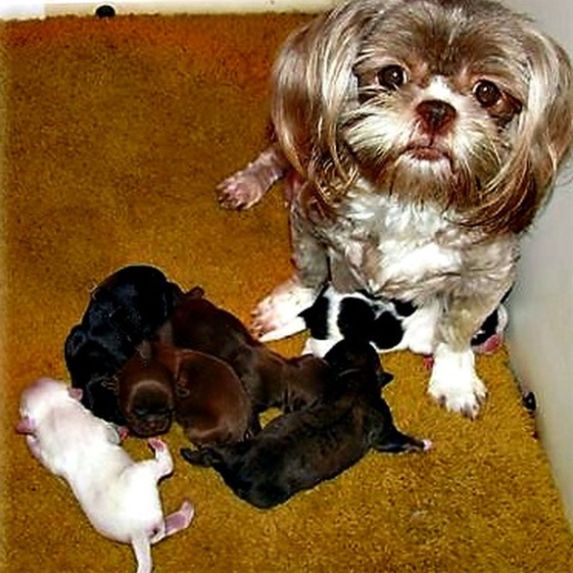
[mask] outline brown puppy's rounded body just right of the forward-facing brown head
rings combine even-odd
[[[152,345],[175,382],[175,421],[197,446],[240,442],[256,428],[251,402],[235,371],[196,350]],[[251,428],[251,425],[255,428]]]

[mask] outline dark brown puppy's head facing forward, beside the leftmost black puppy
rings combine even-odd
[[[175,411],[173,375],[148,349],[148,343],[117,375],[119,409],[130,432],[140,437],[169,431]]]

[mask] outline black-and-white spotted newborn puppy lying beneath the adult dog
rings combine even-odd
[[[440,312],[435,301],[416,306],[373,298],[362,291],[341,293],[328,284],[290,329],[295,332],[308,328],[310,338],[304,352],[317,356],[324,356],[343,337],[366,337],[378,352],[407,349],[430,355]],[[474,334],[473,351],[490,353],[499,348],[506,325],[507,311],[500,304]]]

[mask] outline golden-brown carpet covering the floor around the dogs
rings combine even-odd
[[[61,18],[2,31],[3,280],[0,458],[3,566],[10,572],[134,571],[131,549],[95,533],[67,486],[16,436],[22,388],[66,378],[62,346],[90,289],[122,265],[201,284],[248,320],[289,273],[275,190],[245,213],[214,187],[266,140],[273,55],[303,15]],[[303,336],[275,343],[300,351]],[[157,573],[573,571],[573,543],[506,351],[480,357],[489,398],[474,422],[426,396],[422,358],[383,358],[397,425],[431,438],[420,455],[369,454],[339,478],[260,511],[178,455],[167,511],[196,518],[157,545]],[[151,456],[142,441],[125,447]]]

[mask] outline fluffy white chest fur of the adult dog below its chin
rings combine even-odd
[[[370,292],[412,300],[461,272],[468,241],[438,210],[371,193],[350,194],[341,210],[344,218],[326,238]]]

